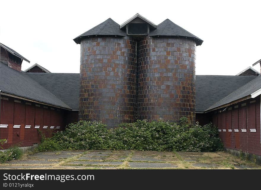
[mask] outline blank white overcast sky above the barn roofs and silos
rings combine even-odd
[[[1,1],[1,43],[50,72],[79,73],[73,39],[109,17],[165,19],[204,40],[196,74],[235,75],[261,59],[261,1]],[[260,72],[260,65],[254,66]]]

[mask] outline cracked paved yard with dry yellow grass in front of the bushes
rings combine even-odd
[[[261,169],[226,152],[55,151],[24,155],[0,169]]]

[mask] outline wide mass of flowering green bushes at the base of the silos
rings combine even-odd
[[[223,147],[218,129],[212,124],[189,126],[187,118],[180,123],[163,120],[138,120],[120,124],[115,129],[97,121],[69,124],[64,131],[45,139],[39,151],[48,150],[151,150],[216,151]]]

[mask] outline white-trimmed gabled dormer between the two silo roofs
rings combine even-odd
[[[150,30],[156,29],[156,25],[140,14],[136,14],[120,25],[121,30],[126,30],[127,35],[141,36],[148,35]]]

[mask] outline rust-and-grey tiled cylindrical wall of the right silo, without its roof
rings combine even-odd
[[[138,43],[140,119],[195,123],[196,43],[181,38],[144,37]]]

